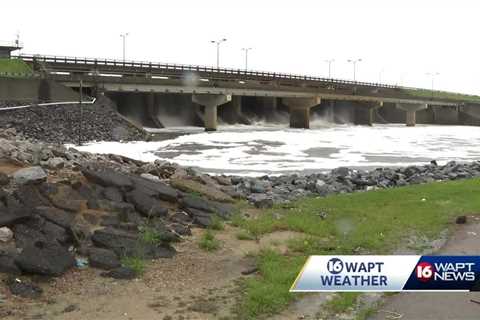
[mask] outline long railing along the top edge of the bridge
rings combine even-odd
[[[357,86],[369,86],[377,88],[399,88],[396,85],[373,83],[373,82],[361,82],[342,80],[334,78],[324,78],[309,75],[289,74],[289,73],[277,73],[267,71],[254,71],[245,69],[233,69],[233,68],[215,68],[199,65],[186,65],[186,64],[170,64],[170,63],[156,63],[145,61],[124,61],[116,59],[99,59],[99,58],[79,58],[79,57],[67,57],[67,56],[49,56],[49,55],[31,55],[20,54],[14,56],[14,58],[22,59],[24,61],[39,61],[44,63],[57,63],[57,64],[75,64],[75,65],[90,65],[90,66],[109,66],[109,67],[123,67],[123,68],[139,68],[142,71],[153,72],[155,70],[172,70],[172,71],[190,71],[190,72],[210,72],[218,74],[231,74],[245,77],[263,78],[265,80],[274,79],[287,79],[287,80],[303,80],[303,81],[316,81],[331,84],[346,84]],[[263,80],[261,79],[261,80]]]

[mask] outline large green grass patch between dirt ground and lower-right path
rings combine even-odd
[[[266,210],[255,219],[237,218],[236,224],[252,235],[279,230],[304,234],[287,243],[288,254],[263,251],[258,255],[259,276],[245,281],[238,313],[243,319],[257,319],[285,308],[298,297],[289,288],[308,255],[390,254],[405,246],[407,238],[436,239],[456,216],[480,211],[479,194],[479,179],[435,182],[306,198],[286,208]],[[322,208],[328,208],[325,219],[319,214]],[[281,218],[274,212],[281,212]],[[353,296],[341,297],[334,302],[339,309],[351,305]]]

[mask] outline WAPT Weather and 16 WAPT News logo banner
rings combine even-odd
[[[480,256],[310,256],[292,292],[479,291]]]

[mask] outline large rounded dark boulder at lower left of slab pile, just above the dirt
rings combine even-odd
[[[75,265],[75,259],[58,244],[37,241],[25,246],[15,263],[27,273],[60,276]]]

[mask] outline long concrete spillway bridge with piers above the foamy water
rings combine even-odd
[[[333,121],[347,117],[356,124],[401,121],[407,126],[414,126],[418,116],[433,123],[458,123],[459,114],[465,117],[463,109],[478,113],[461,101],[417,97],[406,88],[378,83],[108,59],[17,58],[44,79],[75,89],[81,83],[87,94],[107,95],[120,113],[154,127],[163,127],[160,114],[172,110],[200,119],[206,130],[216,130],[218,115],[227,122],[245,123],[244,112],[268,119],[283,110],[292,128],[309,128],[315,110]]]

